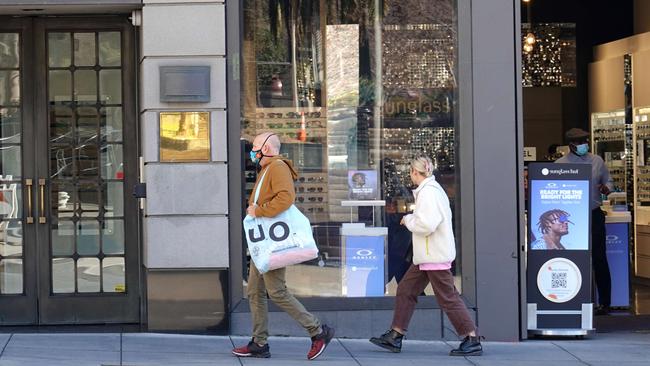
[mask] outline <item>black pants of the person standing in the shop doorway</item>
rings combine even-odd
[[[612,301],[612,278],[607,263],[605,235],[605,213],[600,207],[591,210],[591,263],[598,288],[598,300],[601,305],[609,306]]]

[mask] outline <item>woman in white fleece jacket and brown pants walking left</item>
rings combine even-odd
[[[463,341],[451,350],[452,356],[479,356],[483,353],[476,325],[454,286],[451,263],[456,258],[449,198],[433,177],[431,159],[420,156],[411,162],[415,210],[401,224],[413,235],[413,264],[397,285],[391,329],[370,342],[393,352],[402,349],[402,338],[415,310],[418,296],[429,283],[442,311],[447,314]]]

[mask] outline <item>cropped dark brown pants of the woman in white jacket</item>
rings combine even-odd
[[[475,331],[476,326],[460,294],[456,291],[451,271],[420,271],[420,267],[414,264],[411,264],[404,278],[397,285],[392,326],[403,330],[408,328],[418,296],[429,283],[433,287],[440,308],[447,314],[458,335],[465,337]]]

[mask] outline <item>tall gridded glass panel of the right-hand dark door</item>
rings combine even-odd
[[[124,292],[121,33],[47,45],[52,291]]]

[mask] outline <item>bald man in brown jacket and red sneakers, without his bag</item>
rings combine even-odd
[[[275,217],[286,211],[296,199],[294,180],[298,174],[290,160],[280,153],[280,139],[274,133],[266,132],[253,140],[250,157],[260,166],[257,181],[248,200],[246,213],[252,217]],[[266,172],[260,186],[258,202],[255,203],[255,190],[260,177]],[[253,316],[253,338],[247,345],[237,347],[232,353],[239,357],[271,357],[267,338],[268,309],[266,295],[282,310],[294,318],[311,336],[311,348],[307,359],[320,356],[334,337],[334,329],[321,325],[320,321],[289,292],[285,280],[286,269],[280,268],[260,274],[251,261],[248,275],[248,302]]]

